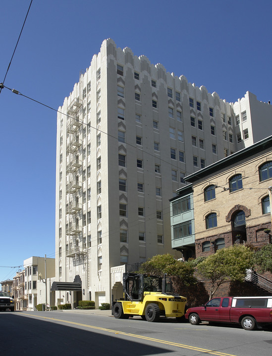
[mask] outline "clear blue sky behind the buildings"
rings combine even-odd
[[[0,2],[0,82],[29,4]],[[33,0],[4,84],[57,109],[107,38],[226,101],[272,100],[271,0]],[[56,113],[3,89],[0,122],[0,266],[54,257]]]

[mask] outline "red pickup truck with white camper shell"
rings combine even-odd
[[[201,321],[233,322],[254,330],[257,323],[272,323],[272,297],[213,298],[202,307],[187,309],[185,318],[192,325]]]

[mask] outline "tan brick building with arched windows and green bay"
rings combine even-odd
[[[185,259],[271,243],[272,136],[184,179],[170,212],[172,248]]]

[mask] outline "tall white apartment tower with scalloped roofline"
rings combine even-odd
[[[255,141],[250,97],[227,103],[103,42],[57,115],[55,280],[81,280],[75,300],[110,302],[110,267],[180,257],[169,199],[186,175]]]

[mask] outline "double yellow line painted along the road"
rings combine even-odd
[[[193,350],[193,351],[198,351],[198,352],[202,352],[205,354],[210,354],[210,355],[217,355],[217,356],[236,356],[233,354],[225,354],[225,353],[221,353],[219,351],[213,351],[213,350],[208,350],[208,349],[202,349],[202,348],[198,348],[196,346],[191,346],[191,345],[185,345],[185,344],[179,344],[179,343],[175,343],[175,342],[171,342],[171,341],[166,341],[166,340],[160,340],[160,339],[154,339],[151,337],[147,337],[147,336],[140,336],[140,335],[136,335],[136,334],[130,334],[130,333],[126,333],[123,331],[116,331],[116,330],[112,330],[112,329],[107,329],[107,328],[103,328],[103,327],[99,327],[99,326],[93,326],[93,325],[88,325],[88,324],[81,324],[78,322],[74,322],[74,321],[69,321],[69,320],[63,320],[63,319],[57,319],[57,318],[53,318],[53,317],[48,317],[48,316],[36,316],[33,314],[27,314],[27,313],[23,313],[23,314],[19,314],[21,316],[31,316],[31,317],[36,317],[36,318],[41,318],[41,319],[48,319],[48,320],[54,320],[54,321],[60,321],[63,323],[67,323],[67,324],[72,324],[72,325],[78,325],[78,326],[84,326],[90,329],[96,329],[96,330],[102,330],[102,331],[107,331],[110,333],[114,333],[114,334],[119,334],[119,335],[124,335],[124,336],[131,336],[137,339],[142,339],[142,340],[147,340],[147,341],[153,341],[155,343],[159,343],[159,344],[164,344],[164,345],[169,345],[169,346],[175,346],[175,347],[179,347],[182,349],[188,349],[188,350]]]

